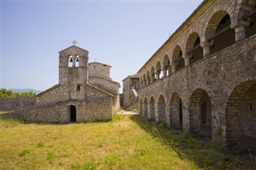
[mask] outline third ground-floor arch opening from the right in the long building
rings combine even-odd
[[[182,98],[178,93],[173,93],[170,98],[170,127],[182,129]]]

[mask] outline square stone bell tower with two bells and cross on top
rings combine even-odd
[[[59,53],[59,84],[70,91],[71,99],[85,97],[85,85],[88,83],[88,51],[75,45]]]

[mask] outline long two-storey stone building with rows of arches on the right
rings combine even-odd
[[[141,115],[256,147],[255,0],[205,0],[137,74]]]

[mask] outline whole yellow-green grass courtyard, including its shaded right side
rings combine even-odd
[[[70,125],[1,120],[0,169],[256,169],[250,152],[138,116]]]

